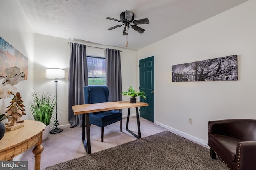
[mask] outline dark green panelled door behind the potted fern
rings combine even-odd
[[[140,117],[154,122],[154,56],[140,60],[140,91],[147,94],[146,100],[140,97],[140,101],[148,103],[140,107]]]

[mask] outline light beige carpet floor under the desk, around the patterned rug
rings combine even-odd
[[[137,138],[127,132],[125,127],[126,118],[123,118],[122,132],[120,132],[119,122],[105,127],[104,142],[102,143],[100,141],[100,127],[92,125],[90,129],[92,153],[136,140]],[[138,134],[136,117],[130,117],[128,129]],[[147,137],[167,130],[141,117],[140,129],[142,137]],[[41,156],[41,170],[44,170],[47,166],[52,166],[86,154],[82,144],[82,128],[80,127],[65,128],[61,133],[49,134],[48,139],[44,140],[42,145],[44,151]],[[33,147],[24,152],[19,159],[28,161],[28,170],[34,170],[35,159],[32,149]]]

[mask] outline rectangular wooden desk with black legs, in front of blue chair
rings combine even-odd
[[[104,103],[82,104],[82,105],[72,106],[72,110],[74,111],[75,115],[83,114],[83,116],[82,116],[82,141],[84,143],[84,147],[86,149],[87,154],[91,153],[90,121],[89,121],[89,115],[87,113],[128,108],[126,131],[130,132],[132,135],[134,135],[137,138],[141,138],[138,107],[142,107],[142,106],[148,106],[148,104],[144,103],[144,102],[130,103],[130,101],[120,101],[120,102],[104,102]],[[130,131],[128,129],[131,107],[136,107],[138,135],[134,134],[132,131]],[[85,140],[85,128],[86,128],[86,140]]]

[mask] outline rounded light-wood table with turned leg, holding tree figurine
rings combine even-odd
[[[25,120],[24,127],[13,131],[6,131],[0,141],[0,160],[12,160],[13,157],[25,152],[32,146],[35,155],[35,170],[40,170],[42,146],[42,135],[45,129],[44,123],[40,121]]]

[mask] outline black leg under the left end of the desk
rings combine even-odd
[[[85,140],[85,129],[86,129],[86,140]],[[91,154],[92,151],[91,151],[89,114],[82,115],[82,141],[87,154]]]

